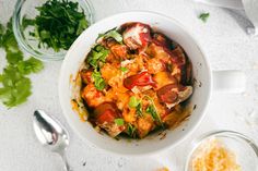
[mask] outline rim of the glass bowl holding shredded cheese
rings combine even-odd
[[[195,138],[191,142],[191,148],[187,155],[186,158],[186,162],[185,162],[185,168],[184,171],[189,171],[189,164],[191,161],[191,157],[194,155],[194,152],[196,151],[196,149],[206,141],[208,141],[209,138],[212,137],[230,137],[230,138],[235,138],[235,139],[241,139],[243,141],[245,144],[247,144],[256,154],[257,156],[257,161],[258,161],[258,146],[255,143],[255,141],[253,141],[250,137],[246,136],[243,133],[236,132],[236,131],[231,131],[231,130],[218,130],[218,131],[211,131],[208,133],[202,134],[201,136]]]

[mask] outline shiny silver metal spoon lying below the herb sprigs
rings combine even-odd
[[[38,141],[51,151],[59,154],[64,161],[64,170],[71,171],[64,155],[69,145],[69,135],[66,129],[43,110],[34,112],[33,127]]]

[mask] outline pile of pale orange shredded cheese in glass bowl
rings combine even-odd
[[[235,155],[219,139],[211,138],[197,148],[191,160],[191,171],[241,171]]]

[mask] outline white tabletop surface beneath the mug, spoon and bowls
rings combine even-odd
[[[129,10],[155,11],[177,19],[197,37],[212,69],[239,69],[246,73],[246,93],[214,93],[206,119],[177,148],[152,157],[129,159],[106,154],[79,139],[64,121],[58,101],[57,81],[61,62],[45,63],[45,70],[31,77],[33,95],[26,103],[13,109],[5,109],[0,105],[0,171],[62,170],[60,158],[43,148],[33,134],[32,114],[38,108],[52,113],[68,127],[71,145],[67,156],[74,171],[154,171],[157,169],[155,162],[167,166],[172,171],[181,171],[189,142],[210,130],[239,131],[258,143],[258,39],[248,37],[243,29],[248,22],[234,12],[195,4],[189,0],[92,1],[96,21]],[[1,22],[7,22],[10,17],[14,2],[0,0]],[[210,12],[206,24],[197,17],[202,11]],[[4,52],[0,50],[0,68],[4,65]],[[140,169],[140,166],[143,168]]]

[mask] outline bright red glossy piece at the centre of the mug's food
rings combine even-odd
[[[155,86],[155,82],[152,80],[151,74],[142,72],[137,75],[131,75],[125,78],[124,86],[128,89],[132,89],[134,86]]]

